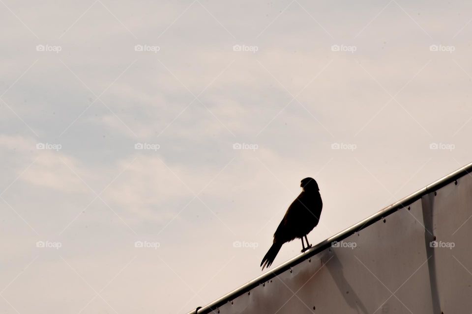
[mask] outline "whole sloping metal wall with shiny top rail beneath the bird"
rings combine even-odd
[[[190,313],[471,313],[471,170],[462,167]]]

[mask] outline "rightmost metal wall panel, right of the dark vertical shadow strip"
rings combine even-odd
[[[472,177],[423,196],[428,238],[436,239],[429,261],[438,313],[472,313]],[[448,245],[449,244],[449,245]]]

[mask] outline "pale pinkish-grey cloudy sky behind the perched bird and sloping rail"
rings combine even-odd
[[[186,313],[260,275],[302,178],[317,243],[471,161],[466,1],[0,7],[4,313]]]

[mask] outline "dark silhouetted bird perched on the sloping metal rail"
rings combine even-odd
[[[301,181],[300,186],[302,187],[300,195],[287,209],[284,219],[282,219],[274,233],[274,244],[272,244],[261,262],[262,270],[264,270],[264,267],[268,268],[274,262],[277,253],[279,253],[282,244],[285,242],[290,242],[297,237],[301,239],[302,252],[311,247],[306,235],[318,225],[323,202],[315,179],[305,178]],[[303,237],[306,240],[306,248]]]

